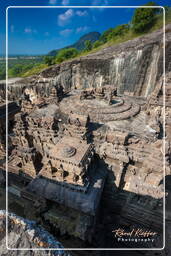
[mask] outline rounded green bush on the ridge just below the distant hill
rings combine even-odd
[[[75,48],[68,48],[60,50],[56,56],[55,62],[61,63],[64,60],[75,58],[78,55],[78,51]]]

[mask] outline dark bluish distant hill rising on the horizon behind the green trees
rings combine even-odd
[[[99,32],[90,32],[90,33],[85,34],[82,37],[80,37],[80,39],[76,43],[74,43],[72,45],[68,45],[68,46],[66,46],[64,48],[61,48],[61,49],[76,48],[77,50],[80,51],[80,50],[84,49],[84,47],[85,47],[84,43],[85,43],[86,40],[90,40],[92,43],[94,43],[95,41],[97,41],[99,39],[99,37],[100,37],[100,33]],[[61,49],[50,51],[48,53],[48,55],[49,56],[56,56],[57,53]]]

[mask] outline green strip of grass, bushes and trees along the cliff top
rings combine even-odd
[[[154,6],[154,2],[149,2],[146,5]],[[147,11],[150,10],[150,11]],[[157,10],[157,11],[156,11]],[[171,8],[165,7],[166,11],[166,24],[171,23]],[[119,25],[115,28],[109,28],[104,31],[99,40],[96,40],[94,43],[90,41],[84,42],[84,49],[78,51],[75,48],[62,49],[58,52],[56,56],[45,56],[44,63],[35,64],[29,70],[26,69],[23,65],[21,72],[19,67],[16,67],[15,70],[10,71],[10,76],[21,76],[27,77],[41,72],[44,68],[54,65],[56,63],[61,63],[66,60],[72,60],[77,57],[85,56],[90,53],[97,52],[103,48],[116,45],[119,43],[132,40],[136,37],[143,36],[147,33],[151,33],[157,29],[163,27],[163,10],[160,9],[144,9],[138,8],[135,10],[132,22],[129,24]],[[20,67],[21,68],[21,67]],[[16,71],[16,72],[15,72]]]

